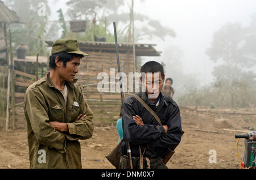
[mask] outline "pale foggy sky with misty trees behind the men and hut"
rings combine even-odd
[[[22,5],[16,4],[21,1],[3,2],[20,17],[26,17],[27,12],[19,11]],[[36,6],[41,1],[27,2],[31,9],[38,10]],[[106,16],[110,33],[113,33],[113,22],[117,22],[119,29],[125,29],[131,10],[131,0],[42,2],[47,3],[48,21],[59,20],[60,8],[65,20],[73,20],[72,17],[91,20],[93,15],[88,15],[86,2],[100,3],[101,7],[94,8],[92,14],[97,12],[97,17],[102,19]],[[152,60],[164,63],[166,78],[174,80],[174,100],[180,104],[216,106],[214,99],[207,100],[213,95],[221,98],[220,106],[255,104],[255,7],[256,1],[249,0],[135,0],[135,43],[156,44],[155,49],[162,52],[160,57],[142,57],[141,65]],[[44,38],[52,41],[60,38],[60,23],[55,28],[50,26],[51,23],[48,30],[55,30],[46,32]],[[241,93],[250,96],[242,97]],[[234,97],[238,96],[242,99],[235,101]],[[191,101],[196,104],[189,104]],[[225,101],[230,103],[225,105]]]

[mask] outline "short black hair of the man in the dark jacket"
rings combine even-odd
[[[148,61],[146,63],[144,63],[144,65],[141,67],[141,78],[142,80],[145,78],[144,74],[151,72],[151,73],[155,73],[155,72],[161,72],[162,75],[162,79],[164,80],[164,70],[163,70],[163,66],[156,62],[156,61]],[[144,72],[144,73],[142,73]]]

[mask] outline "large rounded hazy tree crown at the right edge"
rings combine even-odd
[[[241,23],[227,23],[213,35],[207,54],[213,62],[222,62],[214,68],[216,78],[242,78],[255,83],[253,67],[256,64],[254,46],[256,34]]]

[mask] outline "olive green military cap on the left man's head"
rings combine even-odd
[[[56,40],[52,46],[52,54],[62,52],[89,55],[80,51],[77,40]]]

